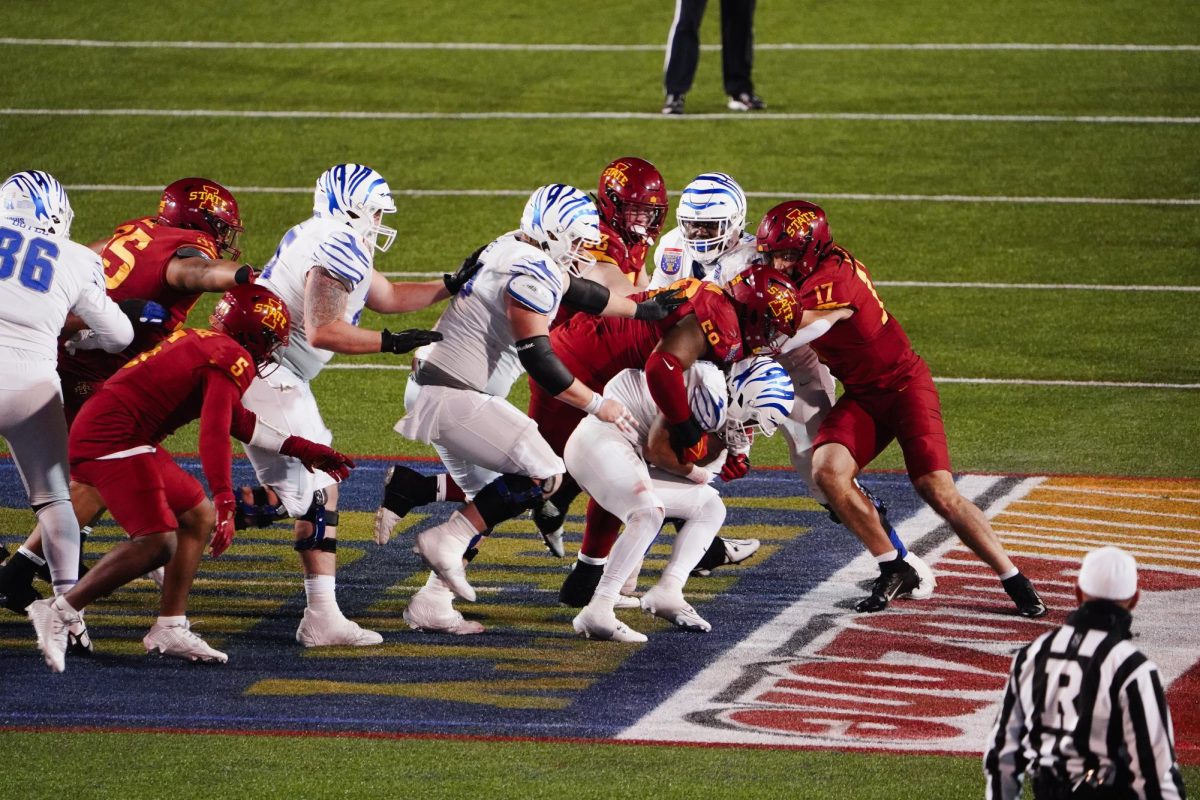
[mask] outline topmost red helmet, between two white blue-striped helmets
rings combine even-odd
[[[662,174],[642,158],[618,158],[600,173],[596,207],[626,245],[654,245],[667,216]]]

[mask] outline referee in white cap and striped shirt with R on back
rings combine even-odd
[[[1138,565],[1088,553],[1079,609],[1013,660],[984,754],[989,799],[1014,800],[1026,772],[1038,800],[1184,798],[1158,667],[1130,642]]]

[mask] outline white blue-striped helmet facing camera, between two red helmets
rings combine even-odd
[[[697,175],[679,197],[676,219],[688,255],[701,264],[712,264],[742,237],[745,192],[725,173]]]

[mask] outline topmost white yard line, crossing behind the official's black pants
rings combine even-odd
[[[0,37],[0,44],[29,47],[134,48],[178,50],[512,50],[517,53],[661,53],[664,43],[596,44],[520,43],[520,42],[200,42],[200,41],[126,41],[97,38],[19,38]],[[719,44],[701,44],[702,50],[719,52]],[[1200,44],[1087,44],[1039,42],[755,42],[756,50],[1015,50],[1068,53],[1196,53]]]

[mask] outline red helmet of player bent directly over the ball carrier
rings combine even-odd
[[[744,355],[775,355],[800,325],[799,294],[787,276],[766,264],[751,264],[725,287],[742,326]]]

